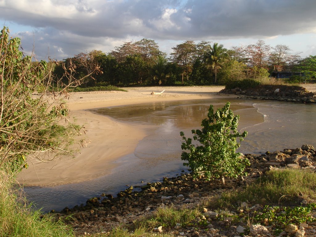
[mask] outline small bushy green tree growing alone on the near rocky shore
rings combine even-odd
[[[191,168],[195,178],[204,174],[207,179],[221,178],[225,185],[225,177],[237,177],[250,165],[246,158],[236,153],[240,147],[237,138],[240,137],[241,142],[247,132],[240,134],[237,131],[239,116],[234,116],[229,106],[227,102],[213,113],[213,105],[210,105],[208,119],[202,120],[202,130],[192,130],[193,139],[201,145],[195,146],[191,138],[186,138],[180,132],[185,141],[181,145],[182,150],[190,150],[190,153],[182,152],[181,160],[188,161],[183,164]]]

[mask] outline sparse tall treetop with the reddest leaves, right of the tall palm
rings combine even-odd
[[[246,47],[248,64],[251,67],[267,67],[270,49],[270,45],[266,45],[263,40],[258,40],[255,45],[248,45]]]

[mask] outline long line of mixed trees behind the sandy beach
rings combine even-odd
[[[154,40],[142,39],[125,42],[107,54],[99,50],[79,53],[59,62],[54,74],[58,78],[67,78],[71,73],[79,78],[87,77],[81,85],[84,87],[226,84],[249,78],[268,78],[272,71],[280,69],[301,72],[304,80],[315,78],[316,56],[303,59],[300,53],[291,52],[289,46],[271,47],[263,40],[230,49],[207,41],[185,41],[173,47],[167,58]],[[96,65],[99,70],[95,71]]]

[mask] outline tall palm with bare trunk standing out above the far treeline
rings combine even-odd
[[[217,81],[217,72],[222,68],[222,65],[229,61],[227,49],[222,44],[214,43],[210,46],[210,50],[205,53],[205,63],[212,68],[215,73],[215,83]]]

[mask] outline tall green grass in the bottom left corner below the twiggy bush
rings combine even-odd
[[[0,171],[0,236],[73,236],[61,221],[55,222],[40,211],[32,211],[14,191],[13,178]]]

